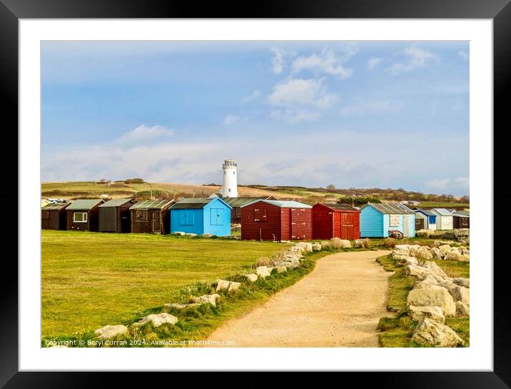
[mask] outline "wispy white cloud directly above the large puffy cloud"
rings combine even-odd
[[[355,46],[348,46],[343,56],[336,56],[332,49],[323,49],[320,55],[313,53],[310,56],[299,56],[293,61],[293,73],[310,70],[336,76],[338,79],[348,79],[353,75],[353,69],[345,68],[343,62],[349,61],[356,51]]]

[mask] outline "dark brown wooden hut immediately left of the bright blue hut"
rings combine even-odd
[[[168,208],[173,200],[143,200],[129,208],[132,233],[168,233]]]

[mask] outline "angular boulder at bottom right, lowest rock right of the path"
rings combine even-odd
[[[435,347],[457,347],[464,342],[457,333],[447,325],[430,318],[424,320],[413,331],[412,340],[423,345]]]

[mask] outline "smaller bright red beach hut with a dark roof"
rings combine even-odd
[[[317,203],[312,208],[313,239],[360,238],[360,210],[348,204]]]

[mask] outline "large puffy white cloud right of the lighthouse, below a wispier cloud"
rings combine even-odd
[[[288,121],[310,121],[319,118],[320,111],[330,108],[336,97],[323,86],[323,80],[287,79],[273,87],[268,103],[273,118]]]

